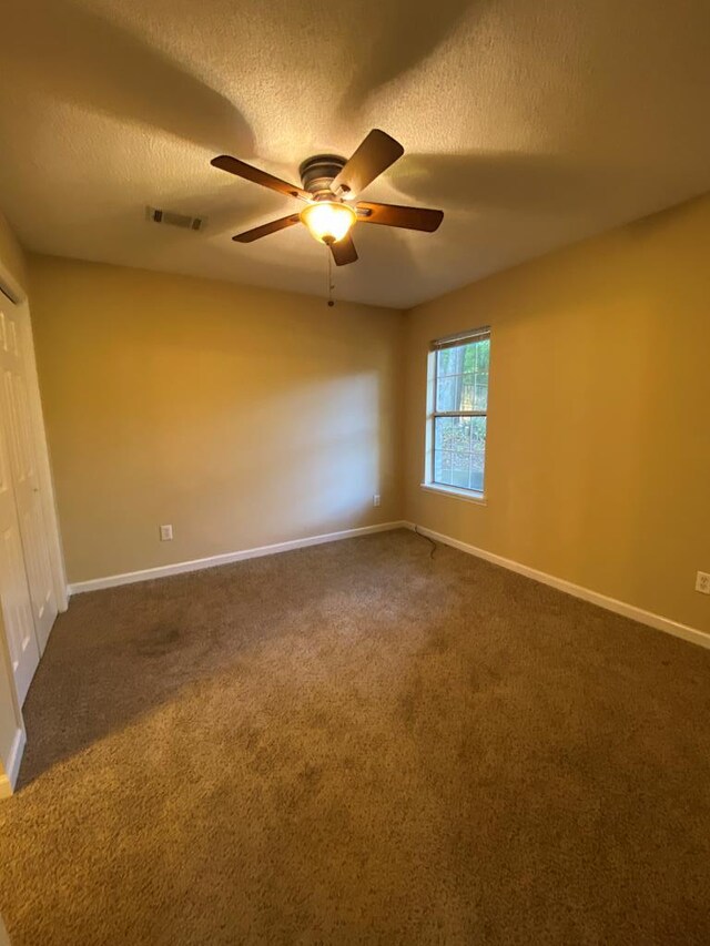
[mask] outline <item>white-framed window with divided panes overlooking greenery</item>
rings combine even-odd
[[[425,486],[483,496],[489,357],[488,328],[433,344]]]

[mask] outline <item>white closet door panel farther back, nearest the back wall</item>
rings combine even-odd
[[[40,653],[57,618],[57,596],[49,555],[48,530],[37,470],[34,429],[29,399],[26,359],[20,339],[20,311],[3,305],[0,319],[0,359],[6,434],[10,440],[12,486],[20,528],[24,567],[30,588],[32,620]]]

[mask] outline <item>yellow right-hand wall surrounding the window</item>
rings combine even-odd
[[[408,315],[405,516],[710,631],[710,197]],[[487,506],[419,488],[432,339],[490,325]]]

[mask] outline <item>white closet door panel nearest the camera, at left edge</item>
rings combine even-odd
[[[0,601],[14,685],[20,704],[24,701],[40,659],[32,620],[32,601],[24,570],[24,553],[12,487],[11,446],[6,398],[6,316],[0,311]]]

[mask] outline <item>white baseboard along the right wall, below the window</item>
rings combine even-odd
[[[407,529],[414,529],[414,522],[405,522]],[[417,531],[423,536],[428,536],[437,542],[445,546],[452,546],[470,556],[485,559],[493,564],[499,564],[501,568],[507,568],[510,571],[516,571],[518,574],[524,574],[526,578],[532,578],[542,584],[549,584],[551,588],[557,588],[558,591],[564,591],[566,594],[571,594],[574,598],[581,598],[582,601],[589,601],[591,604],[598,604],[599,608],[606,608],[607,611],[613,611],[615,614],[622,614],[625,618],[631,618],[633,621],[639,621],[641,624],[648,624],[649,628],[656,628],[657,631],[666,631],[673,637],[682,638],[700,647],[710,648],[710,634],[700,631],[697,628],[690,628],[688,624],[680,624],[678,621],[671,621],[670,618],[663,618],[660,614],[653,614],[651,611],[645,611],[642,608],[637,608],[635,604],[627,604],[626,601],[618,601],[616,598],[608,598],[606,594],[600,594],[598,591],[591,591],[589,588],[582,588],[580,584],[574,584],[571,581],[565,581],[562,578],[556,578],[554,574],[547,574],[545,571],[538,571],[536,568],[530,568],[527,564],[521,564],[519,561],[504,558],[503,556],[494,555],[485,549],[479,549],[476,546],[469,546],[468,542],[462,542],[458,539],[452,539],[449,536],[443,536],[440,532],[435,532],[432,529],[425,529],[417,526]]]

